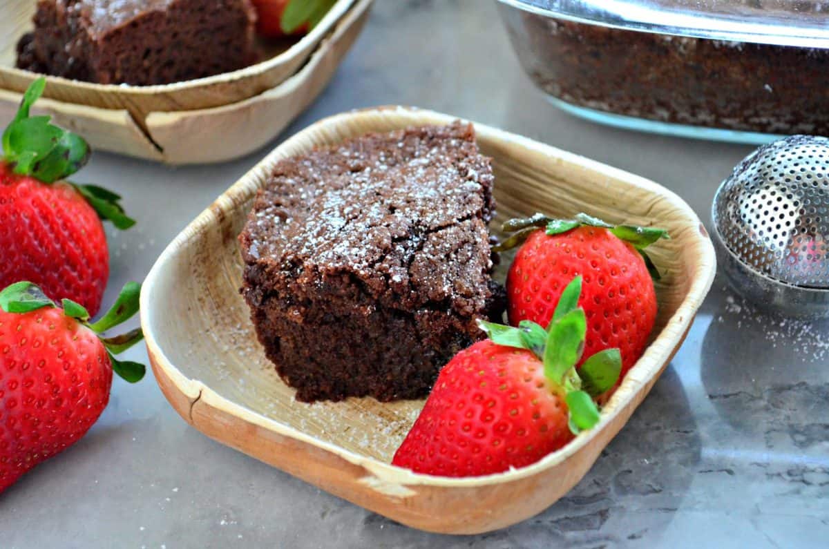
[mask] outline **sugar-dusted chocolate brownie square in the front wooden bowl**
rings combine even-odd
[[[241,233],[241,289],[300,401],[425,396],[503,310],[492,168],[471,124],[367,134],[278,163]]]

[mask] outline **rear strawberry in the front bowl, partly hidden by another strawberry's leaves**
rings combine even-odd
[[[537,226],[545,226],[545,231]],[[531,320],[546,326],[561,291],[570,279],[582,275],[579,306],[588,323],[584,354],[618,348],[624,376],[642,356],[657,317],[652,280],[656,270],[642,250],[667,238],[667,232],[611,226],[584,214],[575,221],[536,215],[508,221],[507,228],[521,230],[509,244],[526,238],[507,275],[510,323]]]

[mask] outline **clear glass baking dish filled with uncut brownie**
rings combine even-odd
[[[661,134],[829,135],[829,1],[499,0],[561,109]]]

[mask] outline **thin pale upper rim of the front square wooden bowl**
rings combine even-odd
[[[379,459],[357,454],[351,450],[345,449],[342,446],[336,445],[326,440],[319,440],[312,435],[307,435],[301,430],[295,429],[289,425],[284,425],[278,420],[273,420],[259,415],[251,411],[245,406],[237,404],[235,401],[230,401],[219,392],[214,391],[211,387],[204,384],[197,379],[191,379],[185,376],[167,357],[162,347],[158,344],[155,337],[153,327],[153,309],[150,306],[150,294],[153,293],[153,288],[158,284],[158,279],[162,275],[165,265],[172,257],[178,253],[178,250],[187,241],[195,236],[197,232],[205,227],[211,225],[216,217],[216,211],[224,213],[231,208],[234,208],[240,201],[240,195],[255,192],[259,188],[257,177],[264,176],[266,172],[276,163],[280,158],[285,157],[285,151],[291,150],[297,143],[303,141],[303,137],[315,129],[332,127],[341,124],[347,119],[353,117],[361,117],[363,115],[381,114],[384,111],[394,111],[395,114],[402,114],[410,118],[410,125],[414,124],[449,124],[453,120],[458,119],[456,116],[441,114],[427,109],[418,109],[416,107],[405,107],[399,105],[386,105],[368,109],[356,109],[346,113],[334,114],[327,118],[321,119],[318,122],[308,126],[308,128],[299,131],[291,138],[286,139],[279,144],[277,148],[265,156],[259,163],[255,164],[248,172],[229,187],[215,202],[208,206],[204,211],[196,216],[196,219],[178,235],[172,242],[167,245],[165,250],[159,255],[158,260],[153,265],[153,268],[144,280],[144,288],[141,294],[141,323],[144,328],[144,337],[148,347],[148,353],[153,358],[153,366],[160,367],[172,383],[179,391],[187,396],[193,406],[196,401],[204,401],[205,404],[214,406],[225,411],[225,413],[235,415],[241,420],[257,425],[265,430],[272,431],[278,435],[283,435],[289,439],[298,440],[318,449],[325,450],[335,456],[344,459],[350,464],[356,465],[366,469],[369,473],[374,475],[383,483],[390,483],[396,486],[424,486],[424,487],[440,487],[440,488],[478,488],[481,486],[490,486],[517,479],[525,479],[533,475],[539,474],[545,469],[550,469],[557,464],[561,464],[572,455],[584,448],[594,437],[598,436],[604,428],[613,420],[618,412],[623,411],[628,406],[633,405],[633,400],[638,395],[640,386],[646,386],[649,382],[655,381],[658,377],[658,372],[662,367],[670,362],[671,353],[681,345],[683,338],[691,327],[691,323],[696,315],[697,309],[702,304],[705,295],[708,293],[711,284],[713,284],[716,271],[716,257],[715,250],[711,243],[705,227],[702,225],[696,213],[691,209],[691,206],[681,199],[676,193],[662,187],[656,182],[625,172],[618,168],[612,168],[606,164],[599,163],[589,158],[584,158],[574,153],[569,153],[560,148],[555,148],[545,143],[537,142],[531,138],[526,138],[518,134],[512,134],[502,129],[496,129],[487,124],[479,124],[472,122],[474,125],[478,138],[487,138],[502,142],[514,143],[518,146],[531,149],[534,152],[542,153],[555,158],[563,159],[565,162],[576,163],[579,166],[592,170],[594,172],[602,173],[614,179],[623,179],[635,187],[640,187],[643,190],[654,192],[662,199],[667,200],[674,206],[677,211],[681,211],[686,215],[686,219],[691,226],[691,223],[696,224],[697,231],[693,232],[694,245],[696,247],[696,265],[693,265],[693,271],[690,279],[688,290],[683,297],[681,304],[676,309],[676,312],[668,318],[667,323],[662,328],[662,331],[657,334],[636,363],[628,372],[628,376],[622,383],[622,386],[614,393],[607,405],[604,406],[599,424],[593,429],[582,431],[570,441],[568,445],[547,454],[544,458],[534,464],[527,465],[520,469],[510,469],[502,473],[488,474],[477,477],[467,478],[449,478],[440,477],[429,474],[416,474],[410,469],[404,469],[390,463],[382,462]],[[400,128],[404,127],[401,123]],[[378,130],[379,131],[379,130]],[[245,198],[245,201],[247,198]],[[665,340],[663,343],[665,351],[656,349],[654,343]],[[664,357],[662,356],[664,355]],[[639,379],[637,372],[649,372],[653,368],[657,368],[657,372],[653,372],[646,377]],[[633,374],[633,375],[632,375]],[[623,391],[624,387],[635,387],[636,390]],[[607,412],[609,410],[609,412]],[[607,412],[607,413],[606,413]]]

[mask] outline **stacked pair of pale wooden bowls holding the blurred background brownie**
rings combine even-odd
[[[113,86],[47,76],[34,111],[113,153],[170,164],[238,158],[268,143],[316,99],[359,36],[371,2],[339,0],[287,51],[210,78]],[[0,17],[0,124],[12,119],[21,91],[37,77],[12,68],[33,10],[32,0],[0,0],[0,13],[12,16]]]

